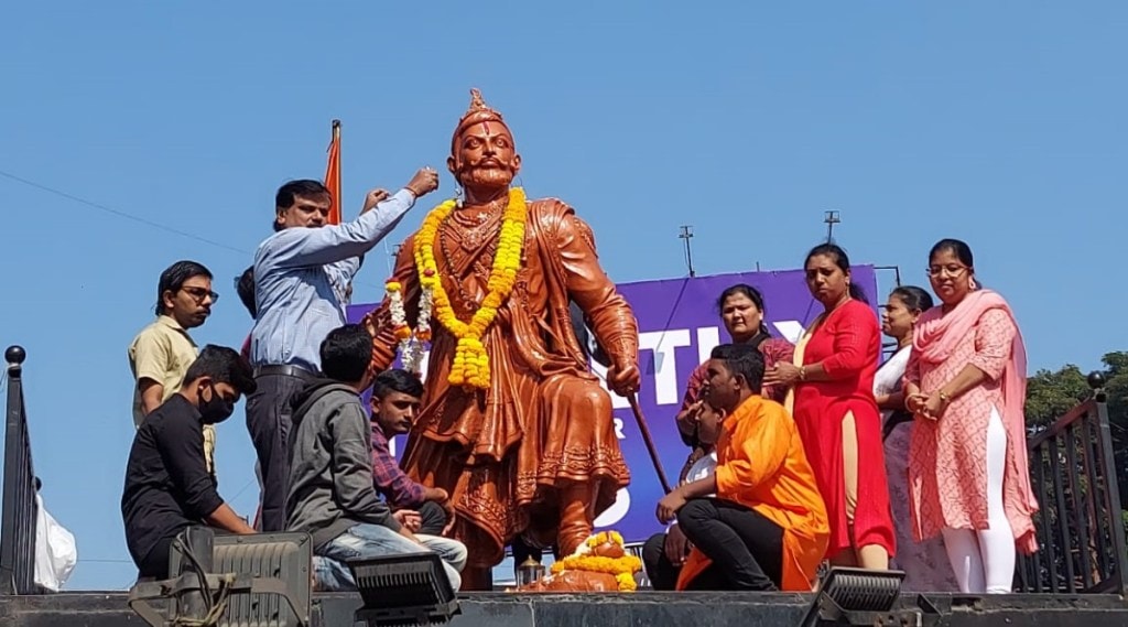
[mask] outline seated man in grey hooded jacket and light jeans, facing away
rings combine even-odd
[[[455,590],[466,565],[466,547],[456,540],[415,536],[417,512],[393,513],[372,483],[372,432],[360,394],[372,382],[368,370],[372,336],[345,325],[321,342],[321,371],[293,399],[290,440],[288,529],[312,536],[319,556],[319,590],[355,590],[341,563],[351,559],[423,553],[440,555]]]

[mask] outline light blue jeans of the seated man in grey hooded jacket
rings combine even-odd
[[[356,590],[352,572],[344,564],[351,559],[404,555],[412,553],[439,554],[450,586],[457,592],[462,585],[459,573],[466,566],[466,546],[458,540],[438,536],[415,536],[420,546],[382,524],[361,523],[329,540],[317,549],[314,557],[314,577],[317,590],[341,592]]]

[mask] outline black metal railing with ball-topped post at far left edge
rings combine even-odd
[[[24,407],[24,360],[19,346],[8,361],[8,412],[3,442],[3,504],[0,513],[0,594],[32,594],[35,585],[35,473]]]

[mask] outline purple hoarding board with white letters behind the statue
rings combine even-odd
[[[872,266],[854,266],[853,282],[865,290],[871,301],[878,301],[878,282]],[[688,453],[673,424],[673,416],[680,407],[689,374],[708,357],[714,346],[729,339],[716,311],[716,298],[725,288],[737,283],[748,283],[760,290],[772,334],[792,342],[822,310],[807,290],[801,270],[618,285],[638,319],[638,362],[643,373],[638,405],[670,482],[677,480]],[[359,320],[372,307],[350,307],[350,321]],[[598,364],[594,369],[602,374]],[[631,485],[619,493],[618,501],[599,516],[596,524],[620,531],[629,542],[641,542],[662,529],[654,518],[655,504],[663,494],[662,487],[629,404],[614,394],[611,399],[619,444],[631,468]],[[402,448],[402,441],[394,443],[395,451]]]

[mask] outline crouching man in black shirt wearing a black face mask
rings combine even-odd
[[[184,381],[142,421],[125,466],[125,544],[141,577],[168,576],[169,546],[185,528],[255,532],[220,497],[204,458],[204,426],[226,421],[239,397],[255,391],[250,364],[208,345]]]

